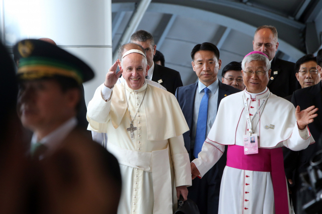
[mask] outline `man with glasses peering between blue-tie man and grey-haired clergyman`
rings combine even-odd
[[[241,63],[230,62],[221,72],[221,81],[226,85],[231,85],[239,90],[244,90],[243,74],[241,74]]]

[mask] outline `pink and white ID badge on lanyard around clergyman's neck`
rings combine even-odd
[[[255,128],[257,127],[257,124],[259,123],[261,119],[261,115],[263,114],[266,102],[270,96],[270,93],[268,93],[264,99],[262,104],[260,105],[259,109],[256,111],[252,121],[250,119],[250,113],[248,111],[248,104],[247,104],[247,99],[245,97],[245,92],[243,94],[243,101],[244,101],[244,108],[245,108],[245,113],[246,113],[246,119],[247,119],[247,124],[249,127],[249,135],[243,135],[243,142],[244,142],[244,154],[245,155],[250,155],[250,154],[257,154],[258,153],[258,146],[259,146],[259,136],[254,133]],[[260,114],[262,112],[262,114]],[[254,127],[254,130],[252,129],[252,122],[254,119],[259,116],[259,119],[256,123],[256,126]]]

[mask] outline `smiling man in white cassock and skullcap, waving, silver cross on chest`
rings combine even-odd
[[[187,198],[191,185],[182,136],[189,128],[175,96],[146,83],[144,49],[125,46],[131,49],[112,65],[88,105],[89,129],[108,134],[107,149],[119,161],[123,181],[118,213],[170,214],[180,194]],[[126,81],[116,84],[121,74]]]

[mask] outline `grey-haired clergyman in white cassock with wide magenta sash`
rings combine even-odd
[[[191,163],[192,178],[203,176],[228,145],[218,213],[290,213],[281,147],[299,151],[314,143],[307,124],[317,109],[300,111],[269,91],[270,61],[264,53],[246,55],[241,67],[246,88],[221,100],[202,151]]]

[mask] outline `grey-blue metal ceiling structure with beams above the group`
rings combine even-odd
[[[279,58],[296,61],[316,52],[321,9],[322,0],[112,0],[113,53],[135,30],[146,30],[166,66],[178,70],[187,85],[197,80],[190,58],[194,45],[217,45],[225,66],[253,50],[254,32],[261,25],[277,28]]]

